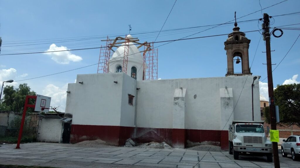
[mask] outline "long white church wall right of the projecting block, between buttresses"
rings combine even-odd
[[[186,128],[220,130],[228,119],[220,116],[220,88],[232,88],[233,105],[246,80],[241,77],[216,77],[138,81],[137,127],[172,128],[173,96],[176,88],[186,88]],[[235,107],[234,120],[252,120],[251,85],[249,76]],[[194,98],[196,97],[196,98]],[[260,117],[259,88],[253,88],[255,120]],[[230,122],[230,121],[229,121]],[[229,124],[229,123],[227,123]],[[222,128],[221,128],[222,127]]]

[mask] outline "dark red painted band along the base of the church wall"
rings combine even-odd
[[[173,147],[187,147],[187,141],[219,142],[221,149],[228,149],[228,131],[198,130],[198,129],[167,129],[167,128],[140,128],[125,126],[93,126],[76,125],[71,128],[70,143],[84,140],[101,139],[107,144],[122,146],[131,138],[139,143],[166,142]]]

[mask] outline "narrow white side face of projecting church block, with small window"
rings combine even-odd
[[[134,97],[133,105],[128,103],[128,94],[135,96],[136,94],[136,80],[125,73],[123,74],[122,82],[122,104],[121,104],[121,121],[120,126],[134,127],[134,115],[135,115],[135,100]]]

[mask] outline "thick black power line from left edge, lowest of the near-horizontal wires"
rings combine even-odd
[[[259,30],[245,31],[244,33],[255,32],[255,31],[259,31]],[[169,42],[170,43],[170,42],[181,41],[181,40],[199,39],[199,38],[215,37],[215,36],[225,36],[225,35],[228,35],[228,34],[218,34],[218,35],[212,35],[212,36],[201,36],[201,37],[193,37],[193,38],[187,38],[187,39],[166,40],[166,41],[152,42],[152,43],[161,43],[161,42]],[[130,45],[139,45],[139,44],[130,44]],[[162,46],[162,45],[160,45],[160,46]],[[60,51],[76,51],[76,50],[89,50],[89,49],[99,49],[99,48],[107,48],[107,46],[104,46],[104,47],[94,47],[94,48],[80,48],[80,49],[60,50]],[[0,55],[38,54],[38,53],[60,52],[60,51],[44,51],[44,52],[17,53],[17,54],[0,54]]]

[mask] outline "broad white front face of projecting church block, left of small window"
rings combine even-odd
[[[123,74],[77,75],[72,124],[120,126]]]

